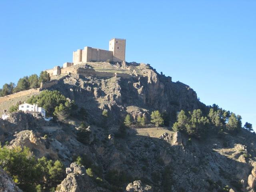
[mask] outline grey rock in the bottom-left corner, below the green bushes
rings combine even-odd
[[[0,192],[22,192],[12,178],[0,167]]]

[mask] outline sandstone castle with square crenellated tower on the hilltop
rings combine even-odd
[[[109,41],[109,50],[102,50],[92,47],[84,47],[84,50],[78,49],[73,52],[74,65],[82,62],[90,61],[125,61],[125,47],[126,40],[120,38],[113,38]]]

